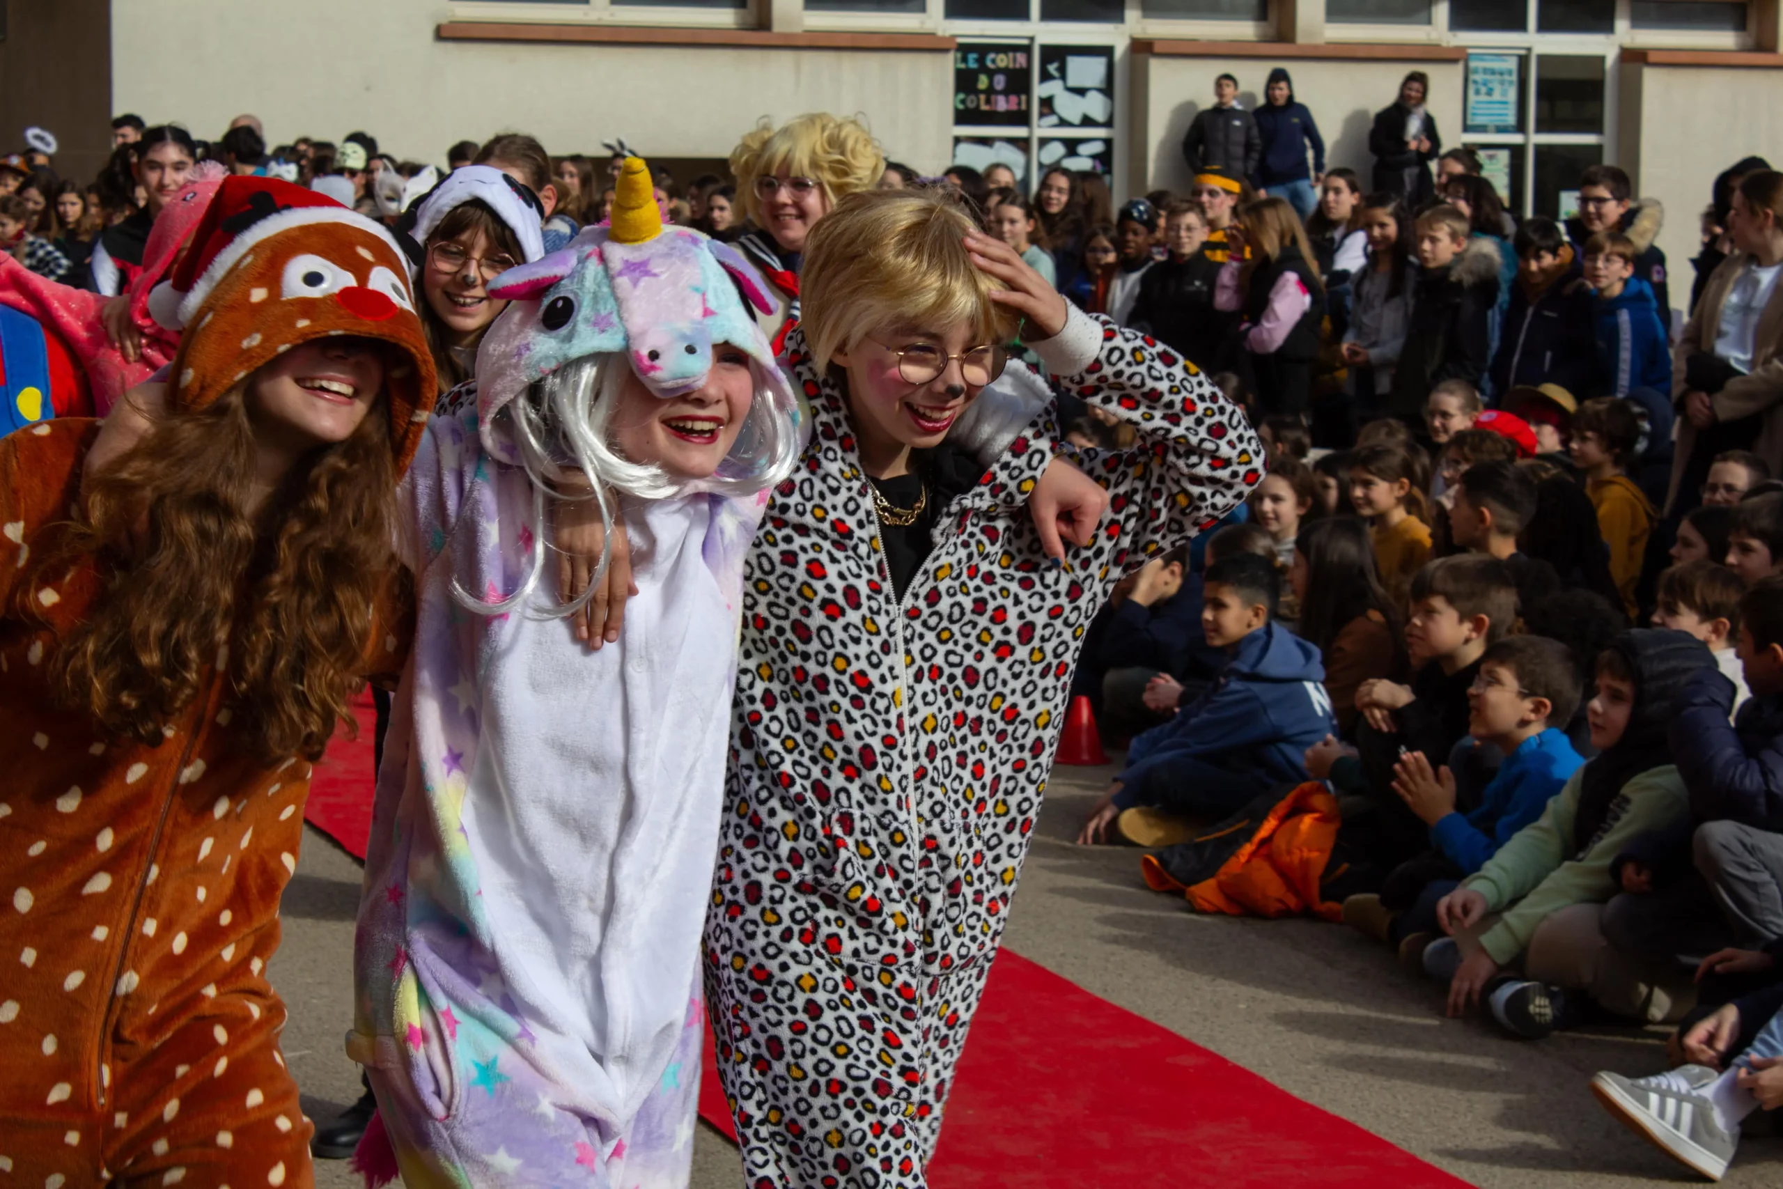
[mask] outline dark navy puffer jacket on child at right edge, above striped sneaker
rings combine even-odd
[[[1672,701],[1672,759],[1690,815],[1783,832],[1783,693],[1754,693],[1730,726],[1731,709],[1733,683],[1713,665]]]

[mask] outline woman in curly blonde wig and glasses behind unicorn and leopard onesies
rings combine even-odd
[[[799,321],[799,269],[811,226],[849,194],[874,189],[884,168],[884,152],[861,121],[824,112],[779,128],[763,119],[731,152],[736,198],[749,219],[736,246],[781,298],[781,308],[763,319],[776,351]]]

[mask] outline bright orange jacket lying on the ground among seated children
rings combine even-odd
[[[1196,838],[1139,859],[1152,891],[1180,891],[1196,913],[1343,920],[1321,891],[1337,847],[1337,799],[1319,781],[1268,791]],[[1339,877],[1343,872],[1330,872]]]

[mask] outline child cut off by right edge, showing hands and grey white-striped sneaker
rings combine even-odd
[[[1733,1037],[1758,1027],[1730,1059]],[[1683,1037],[1692,1064],[1651,1077],[1599,1073],[1598,1102],[1699,1177],[1721,1180],[1753,1111],[1783,1107],[1783,982],[1726,1004]],[[1719,1071],[1717,1071],[1719,1070]]]

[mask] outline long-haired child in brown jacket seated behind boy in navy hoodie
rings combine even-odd
[[[1325,692],[1344,738],[1355,731],[1355,692],[1398,681],[1405,668],[1400,613],[1375,570],[1375,544],[1359,517],[1312,521],[1294,540],[1287,581],[1300,603],[1298,635],[1325,660]]]

